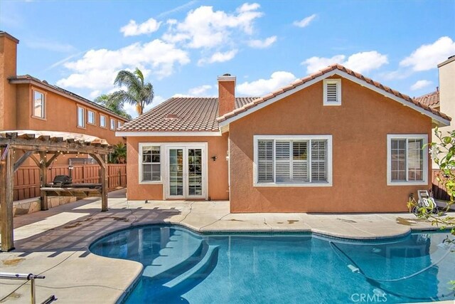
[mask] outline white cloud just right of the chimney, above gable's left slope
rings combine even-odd
[[[292,73],[277,71],[272,73],[269,79],[258,79],[251,82],[245,81],[245,83],[237,85],[236,89],[242,95],[260,96],[271,93],[294,80],[296,80],[296,76]]]

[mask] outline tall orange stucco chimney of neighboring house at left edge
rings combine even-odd
[[[16,77],[18,43],[0,31],[0,130],[16,129],[16,86],[10,85],[8,78]]]

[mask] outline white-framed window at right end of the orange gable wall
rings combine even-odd
[[[387,135],[387,185],[427,185],[428,135]]]

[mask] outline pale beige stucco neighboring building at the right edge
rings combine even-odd
[[[441,112],[455,118],[455,55],[439,63],[439,107]]]

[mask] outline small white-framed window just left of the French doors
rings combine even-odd
[[[161,182],[161,146],[139,144],[139,184]]]

